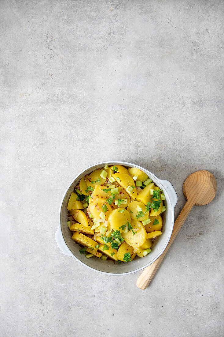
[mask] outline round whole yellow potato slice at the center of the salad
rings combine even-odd
[[[122,213],[119,211],[122,211]],[[125,229],[126,223],[130,222],[130,214],[125,208],[119,207],[110,213],[108,221],[110,222],[110,226],[113,231],[117,230],[122,233]]]

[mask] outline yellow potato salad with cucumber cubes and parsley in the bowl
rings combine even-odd
[[[165,196],[139,168],[105,165],[82,177],[68,202],[80,254],[118,263],[143,258],[162,234]]]

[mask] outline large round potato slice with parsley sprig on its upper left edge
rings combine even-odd
[[[132,247],[140,247],[146,241],[146,230],[143,224],[137,220],[131,220],[131,225],[133,227],[134,232],[136,234],[133,235],[132,231],[128,231],[127,233],[122,233],[122,237],[124,238],[125,242]]]

